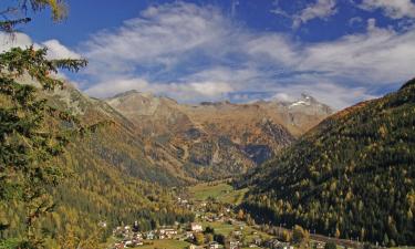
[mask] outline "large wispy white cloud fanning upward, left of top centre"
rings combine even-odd
[[[151,7],[122,28],[103,31],[85,44],[90,72],[129,72],[139,66],[175,66],[194,51],[224,51],[219,44],[232,32],[215,8],[173,3]],[[230,44],[229,44],[230,45]]]

